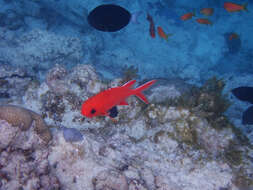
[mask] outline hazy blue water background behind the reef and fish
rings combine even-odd
[[[9,41],[12,42],[0,44],[0,64],[24,67],[39,80],[44,80],[47,71],[58,63],[68,69],[77,64],[91,64],[101,77],[107,79],[121,77],[125,68],[134,66],[138,69],[140,80],[179,77],[188,83],[201,85],[216,76],[228,82],[230,87],[227,92],[239,85],[253,86],[253,4],[248,1],[248,12],[229,13],[223,7],[224,2],[0,0],[0,40],[10,38]],[[244,4],[247,1],[234,2]],[[92,9],[104,3],[120,5],[130,13],[141,11],[138,22],[131,22],[113,33],[95,30],[86,18]],[[202,8],[214,8],[213,15],[202,15]],[[189,12],[194,12],[195,16],[182,21],[180,17]],[[157,31],[156,37],[151,38],[147,13],[152,16],[155,27],[161,26],[165,33],[173,34],[168,41],[159,37]],[[213,24],[200,24],[196,22],[198,18],[206,18]],[[6,30],[9,32],[5,35],[3,31]],[[70,51],[66,54],[61,52],[57,56],[50,54],[50,58],[45,55],[43,59],[38,58],[39,61],[31,60],[32,55],[36,60],[41,49],[51,48],[46,52],[55,51],[57,54],[57,49],[54,49],[58,47],[57,40],[52,42],[48,37],[48,41],[45,38],[43,43],[36,39],[30,43],[30,46],[37,45],[38,48],[27,50],[26,47],[25,53],[29,54],[29,60],[19,58],[22,57],[22,47],[16,39],[34,30],[79,39],[80,55],[72,55],[74,53]],[[236,37],[230,39],[231,34],[236,34]],[[16,44],[19,44],[18,58],[13,55],[15,53],[10,53],[15,50]],[[75,49],[73,46],[70,44],[69,48]]]

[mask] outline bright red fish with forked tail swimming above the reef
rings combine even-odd
[[[120,87],[109,88],[83,102],[82,115],[92,118],[94,116],[109,116],[108,111],[117,105],[128,105],[126,99],[135,95],[148,104],[147,98],[142,91],[149,88],[156,80],[151,80],[138,88],[132,89],[136,80],[131,80]],[[109,116],[110,117],[110,116]]]

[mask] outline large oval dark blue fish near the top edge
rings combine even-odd
[[[131,14],[118,5],[104,4],[93,9],[88,15],[88,23],[97,30],[116,32],[128,25]]]

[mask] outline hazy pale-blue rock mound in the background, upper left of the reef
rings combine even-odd
[[[32,30],[19,38],[5,41],[7,46],[0,46],[1,59],[25,68],[31,75],[50,69],[56,63],[72,67],[83,57],[80,39],[47,31]],[[10,45],[13,43],[15,46]]]

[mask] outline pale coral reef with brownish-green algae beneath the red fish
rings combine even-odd
[[[62,189],[238,190],[252,185],[252,147],[223,115],[229,104],[222,81],[193,87],[164,80],[144,92],[149,105],[130,97],[129,106],[118,106],[113,123],[84,118],[80,106],[122,79],[103,83],[90,65],[68,73],[57,65],[48,78],[29,86],[23,101],[55,126],[48,161]],[[66,90],[59,93],[50,86],[54,81]],[[166,98],[159,100],[159,89]],[[83,138],[76,140],[79,135]]]

